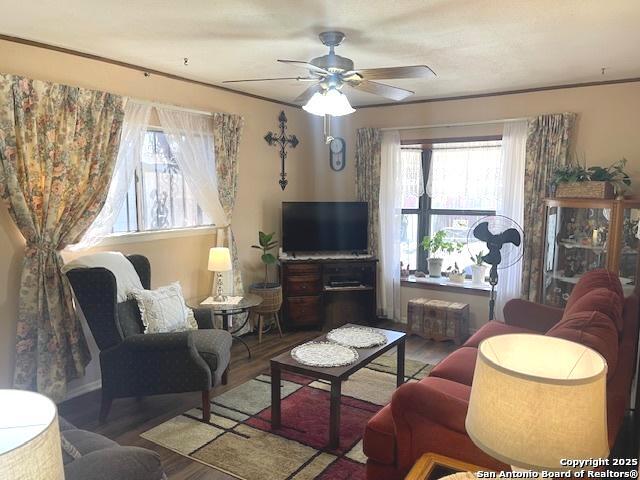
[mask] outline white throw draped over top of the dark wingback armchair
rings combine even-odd
[[[102,267],[113,273],[116,277],[116,289],[118,303],[124,302],[133,289],[142,290],[142,282],[133,264],[120,252],[98,252],[78,257],[62,267],[62,273],[67,273],[74,268]]]

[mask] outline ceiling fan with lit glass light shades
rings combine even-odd
[[[395,101],[404,100],[414,94],[411,90],[393,87],[373,80],[395,78],[430,78],[435,73],[426,65],[411,65],[389,68],[355,69],[353,60],[337,55],[335,47],[340,45],[345,34],[338,31],[322,32],[320,41],[329,47],[329,53],[308,62],[298,60],[278,60],[309,71],[306,77],[253,78],[247,80],[227,80],[223,83],[264,82],[273,80],[298,80],[313,82],[294,102],[304,103],[304,109],[316,115],[339,116],[355,110],[349,104],[342,89],[347,87]]]

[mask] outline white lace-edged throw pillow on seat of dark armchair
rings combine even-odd
[[[144,333],[196,330],[193,310],[185,305],[180,282],[155,290],[133,289],[129,292],[138,302]]]

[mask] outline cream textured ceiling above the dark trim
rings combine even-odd
[[[277,58],[337,53],[356,68],[429,65],[435,79],[389,80],[407,100],[640,77],[638,0],[5,1],[0,33],[213,84],[297,76]],[[183,65],[183,58],[189,65]],[[601,68],[606,67],[605,75]],[[291,102],[295,81],[227,85]],[[355,105],[387,103],[346,92]]]

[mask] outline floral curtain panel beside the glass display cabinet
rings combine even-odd
[[[567,163],[575,113],[541,115],[529,120],[524,173],[524,255],[522,297],[538,300],[544,237],[544,198],[549,195],[553,171]]]

